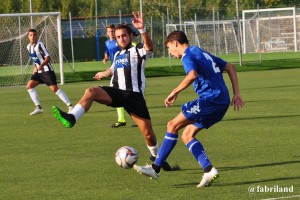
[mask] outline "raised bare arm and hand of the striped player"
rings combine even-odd
[[[144,18],[143,15],[138,12],[132,12],[134,18],[131,20],[132,24],[135,28],[139,29],[142,39],[144,41],[144,48],[146,51],[152,51],[153,50],[153,43],[149,36],[149,34],[146,32],[146,26],[144,24]]]

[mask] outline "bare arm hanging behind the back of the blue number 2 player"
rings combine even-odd
[[[233,97],[232,97],[231,105],[233,105],[234,110],[239,111],[240,108],[243,107],[245,102],[240,95],[239,82],[238,82],[235,66],[233,64],[227,63],[225,70],[228,73],[228,76],[231,81],[232,89],[233,89]]]

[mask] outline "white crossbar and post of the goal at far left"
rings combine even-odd
[[[22,17],[31,17],[31,24],[30,26],[27,28],[27,30],[29,30],[30,28],[35,28],[33,26],[32,23],[32,17],[35,16],[41,16],[41,17],[46,17],[46,16],[51,16],[51,17],[55,17],[56,16],[56,21],[57,24],[55,27],[56,31],[57,31],[57,46],[58,46],[58,64],[59,64],[59,71],[60,71],[60,84],[63,85],[65,83],[64,80],[64,63],[63,63],[63,46],[62,46],[62,28],[61,28],[61,13],[60,12],[40,12],[40,13],[14,13],[14,14],[0,14],[0,19],[1,17],[18,17],[19,18],[19,27],[15,27],[16,29],[19,28],[19,36],[17,36],[17,38],[20,38],[21,41],[21,37],[24,37],[24,32],[21,33],[21,24],[20,24],[20,19]],[[24,27],[22,27],[24,28]],[[38,33],[39,34],[39,33]],[[15,38],[16,39],[16,38]],[[43,41],[42,41],[43,42]],[[21,51],[26,51],[26,49],[21,49],[21,45],[20,45],[20,52]],[[51,52],[50,52],[50,56],[51,56]],[[20,62],[21,62],[22,58],[20,58]],[[28,63],[27,63],[28,64]],[[19,64],[22,67],[22,62]]]

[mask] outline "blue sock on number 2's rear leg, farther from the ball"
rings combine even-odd
[[[201,165],[202,169],[211,166],[202,144],[197,139],[194,138],[186,146]]]

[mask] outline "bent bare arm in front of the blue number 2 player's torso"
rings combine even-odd
[[[189,87],[194,80],[198,77],[198,74],[195,70],[190,71],[186,77],[182,80],[182,82],[169,94],[169,96],[165,99],[166,107],[169,107],[174,104],[175,100],[179,92]]]

